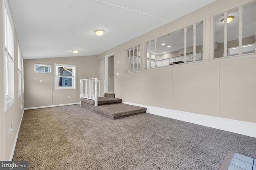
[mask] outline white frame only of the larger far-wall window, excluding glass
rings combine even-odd
[[[58,67],[70,67],[72,68],[72,76],[59,76],[58,75]],[[55,79],[55,90],[61,89],[76,89],[76,66],[68,65],[68,64],[54,64],[54,79]],[[58,87],[58,78],[73,78],[72,86],[61,86]]]

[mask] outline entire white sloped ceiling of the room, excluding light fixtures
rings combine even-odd
[[[24,59],[98,55],[215,0],[9,0]],[[104,29],[98,37],[94,30]],[[79,49],[77,54],[73,49]]]

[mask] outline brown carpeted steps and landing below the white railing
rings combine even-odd
[[[94,100],[81,98],[81,106],[99,115],[115,120],[140,113],[145,113],[145,107],[122,104],[122,99],[115,98],[115,94],[105,93],[105,97],[98,98],[98,106],[94,106]]]

